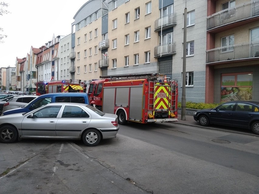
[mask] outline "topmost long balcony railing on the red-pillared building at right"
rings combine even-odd
[[[249,2],[228,10],[217,12],[207,18],[207,29],[259,15],[259,1]]]

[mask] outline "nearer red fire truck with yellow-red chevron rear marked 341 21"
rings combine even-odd
[[[100,78],[104,80],[95,81],[92,86],[92,91],[95,91],[92,104],[95,106],[98,104],[97,106],[105,113],[117,114],[119,124],[127,124],[128,121],[138,123],[178,121],[177,80],[167,81],[164,75],[153,73],[100,76]],[[99,105],[100,102],[102,107]]]

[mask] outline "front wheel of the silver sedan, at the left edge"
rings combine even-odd
[[[16,128],[6,125],[0,128],[0,142],[13,143],[17,140],[18,134]]]

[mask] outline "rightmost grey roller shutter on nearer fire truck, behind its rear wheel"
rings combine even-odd
[[[143,86],[130,87],[130,120],[141,121],[143,104]]]

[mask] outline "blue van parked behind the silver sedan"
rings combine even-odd
[[[15,113],[27,113],[27,112],[33,111],[36,108],[39,108],[41,106],[44,106],[49,103],[54,103],[54,102],[71,102],[71,103],[89,104],[89,98],[88,98],[88,94],[83,92],[43,94],[35,98],[28,104],[26,104],[24,107],[5,111],[1,114],[1,116],[8,115],[8,114],[15,114]]]

